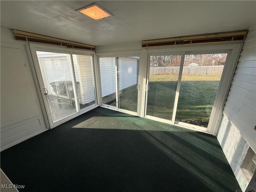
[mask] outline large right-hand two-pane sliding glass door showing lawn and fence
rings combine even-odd
[[[146,117],[207,131],[226,57],[151,53]]]

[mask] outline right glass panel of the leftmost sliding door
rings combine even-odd
[[[80,109],[95,105],[92,56],[72,55]]]

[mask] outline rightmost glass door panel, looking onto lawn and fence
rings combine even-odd
[[[175,121],[208,126],[226,56],[185,55]]]

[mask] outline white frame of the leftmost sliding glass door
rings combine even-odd
[[[38,95],[40,96],[40,102],[42,105],[42,109],[44,111],[44,118],[47,122],[47,128],[51,129],[56,126],[59,126],[60,124],[67,122],[68,120],[71,120],[72,118],[75,118],[76,116],[79,116],[80,114],[83,114],[89,110],[92,110],[96,107],[98,107],[97,103],[97,93],[96,93],[96,79],[95,79],[95,70],[94,70],[94,63],[95,63],[95,53],[94,51],[84,51],[84,50],[74,50],[74,49],[68,49],[68,48],[62,48],[58,46],[48,46],[48,45],[42,45],[42,44],[32,44],[32,43],[27,43],[27,50],[29,52],[29,57],[31,62],[34,64],[34,69],[33,69],[33,75],[36,78],[36,87],[38,90]],[[95,95],[95,105],[89,106],[88,108],[85,108],[84,110],[80,110],[79,102],[76,100],[76,108],[77,111],[73,114],[70,114],[66,116],[65,118],[62,118],[55,123],[52,121],[52,118],[50,117],[50,107],[49,104],[46,102],[45,96],[44,96],[44,90],[43,90],[43,85],[44,81],[42,78],[42,73],[40,70],[39,62],[38,62],[38,57],[36,54],[36,51],[45,51],[45,52],[55,52],[55,53],[62,53],[62,54],[70,54],[70,62],[71,62],[71,78],[72,81],[76,84],[76,77],[74,74],[74,64],[73,64],[73,54],[77,55],[86,55],[86,56],[93,56],[92,58],[92,74],[93,74],[93,82],[94,82],[94,95]],[[75,88],[76,92],[74,92],[74,96],[77,97],[78,92],[77,88]]]

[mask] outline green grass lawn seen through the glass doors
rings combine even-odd
[[[178,75],[150,75],[147,115],[172,119],[177,80]],[[183,75],[175,120],[207,127],[219,81],[220,76]],[[136,111],[136,86],[120,96],[120,108]]]

